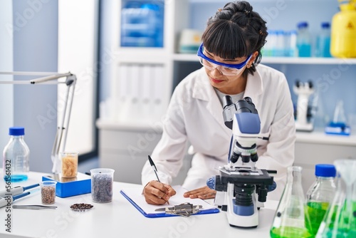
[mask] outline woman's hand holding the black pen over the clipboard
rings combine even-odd
[[[145,195],[146,202],[152,205],[163,205],[166,202],[169,204],[169,198],[175,194],[176,191],[172,188],[171,185],[167,185],[155,180],[147,183],[143,189],[143,195]]]

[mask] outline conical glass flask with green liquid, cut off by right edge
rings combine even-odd
[[[335,160],[337,190],[320,224],[318,238],[356,237],[356,160]]]

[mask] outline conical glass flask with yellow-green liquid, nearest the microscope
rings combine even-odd
[[[302,187],[302,167],[288,167],[287,184],[271,227],[271,237],[313,237]]]

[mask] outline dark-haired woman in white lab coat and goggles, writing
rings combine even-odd
[[[162,205],[175,195],[169,185],[182,167],[187,141],[194,150],[192,167],[182,187],[184,197],[213,198],[206,180],[219,175],[228,162],[232,131],[224,125],[222,98],[233,102],[250,97],[261,120],[256,167],[277,170],[277,188],[268,199],[279,199],[287,167],[294,162],[295,122],[286,77],[259,65],[266,42],[266,21],[246,1],[230,2],[207,23],[198,56],[203,65],[175,88],[164,120],[162,139],[152,152],[160,182],[150,166],[142,169],[147,203]]]

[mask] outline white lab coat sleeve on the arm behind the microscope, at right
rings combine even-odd
[[[268,192],[268,198],[279,200],[286,185],[287,167],[293,165],[295,150],[295,121],[293,115],[293,103],[290,100],[288,83],[283,76],[283,81],[278,86],[278,100],[273,122],[270,126],[269,140],[262,146],[259,154],[258,167],[277,170],[273,180],[277,187],[273,192]]]

